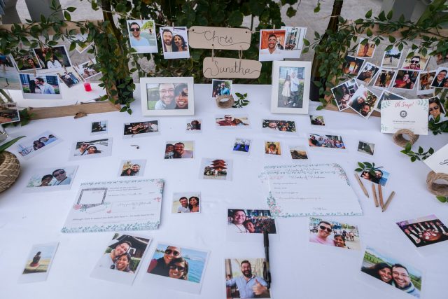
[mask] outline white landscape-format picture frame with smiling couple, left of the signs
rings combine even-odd
[[[140,78],[144,116],[193,116],[193,77]]]

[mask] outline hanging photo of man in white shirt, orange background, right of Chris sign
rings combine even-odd
[[[286,30],[260,30],[259,61],[283,60]]]

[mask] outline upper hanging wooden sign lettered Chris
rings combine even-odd
[[[247,50],[252,32],[244,28],[193,26],[188,29],[191,48],[216,50]]]

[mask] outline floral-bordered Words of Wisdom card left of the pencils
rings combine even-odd
[[[273,217],[363,214],[338,164],[266,166],[260,179]]]

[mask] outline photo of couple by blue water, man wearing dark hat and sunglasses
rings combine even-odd
[[[145,281],[176,291],[199,294],[210,251],[159,243],[148,265]]]

